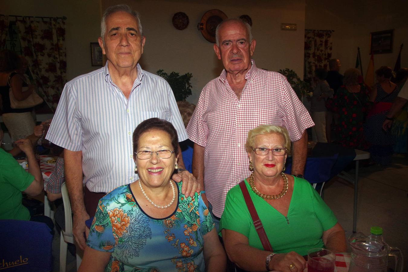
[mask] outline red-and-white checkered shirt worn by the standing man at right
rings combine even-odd
[[[248,131],[273,124],[288,129],[297,141],[314,126],[286,77],[252,67],[238,100],[226,79],[226,71],[208,82],[187,126],[188,138],[203,146],[204,188],[214,215],[221,217],[228,190],[250,175],[245,150]]]

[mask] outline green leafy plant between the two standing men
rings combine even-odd
[[[179,73],[171,72],[169,75],[163,70],[159,70],[156,73],[169,83],[176,101],[185,101],[186,98],[191,95],[192,86],[190,80],[191,77],[193,77],[193,74],[186,73],[184,75],[180,75]]]

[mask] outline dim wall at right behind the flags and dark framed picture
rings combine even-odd
[[[360,47],[363,73],[366,75],[370,32],[394,30],[392,53],[375,54],[374,66],[394,69],[399,46],[405,43],[401,67],[408,67],[408,4],[406,0],[368,1],[306,0],[306,29],[333,29],[333,57],[341,61],[341,71],[354,68],[357,47]]]

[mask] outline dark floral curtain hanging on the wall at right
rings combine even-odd
[[[313,83],[315,69],[328,68],[332,57],[331,30],[305,30],[304,79]]]

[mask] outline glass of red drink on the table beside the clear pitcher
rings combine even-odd
[[[334,272],[336,255],[324,248],[313,248],[307,254],[308,272]]]

